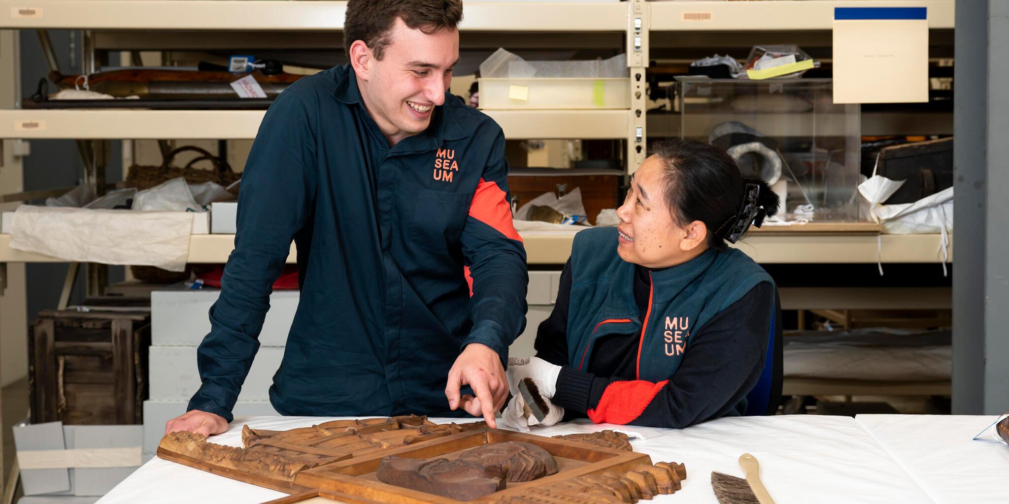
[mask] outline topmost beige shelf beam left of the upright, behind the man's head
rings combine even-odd
[[[343,29],[347,2],[221,0],[0,1],[0,27],[116,30]],[[469,2],[472,31],[624,31],[627,4]]]

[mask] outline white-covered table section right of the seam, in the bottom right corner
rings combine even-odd
[[[933,502],[1009,501],[1009,447],[988,432],[971,440],[994,416],[860,414],[856,419]]]

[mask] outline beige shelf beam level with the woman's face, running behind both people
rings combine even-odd
[[[563,264],[571,253],[573,233],[522,233],[530,264]],[[875,234],[761,234],[737,247],[764,264],[809,263],[934,263],[939,235],[882,235],[878,252]],[[189,262],[225,262],[234,248],[234,235],[193,235]],[[952,245],[949,245],[952,260]],[[295,261],[294,246],[288,262]],[[10,235],[0,235],[0,262],[65,262],[10,248]]]

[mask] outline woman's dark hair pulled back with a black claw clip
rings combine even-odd
[[[666,202],[673,218],[680,226],[704,223],[708,247],[725,249],[725,238],[733,235],[734,228],[737,232],[742,229],[742,236],[754,220],[778,212],[778,195],[764,180],[744,178],[736,159],[724,150],[706,143],[671,140],[653,144],[650,155],[662,163]],[[752,191],[755,188],[758,191]],[[755,211],[763,209],[758,219],[744,210],[748,193],[750,207],[755,204]]]

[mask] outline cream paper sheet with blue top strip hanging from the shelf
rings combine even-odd
[[[927,101],[927,8],[835,7],[833,103]]]

